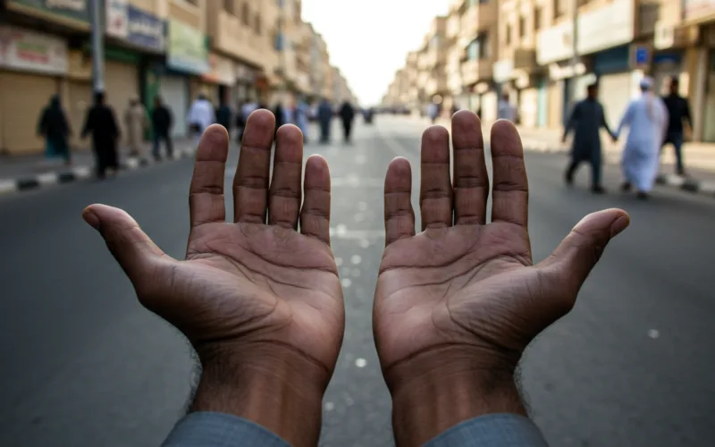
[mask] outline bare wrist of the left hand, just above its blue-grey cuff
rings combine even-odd
[[[330,380],[324,367],[274,344],[223,347],[199,357],[201,379],[190,411],[243,417],[290,445],[317,444]]]

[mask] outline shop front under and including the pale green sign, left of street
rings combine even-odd
[[[208,48],[204,34],[186,23],[170,19],[168,28],[166,66],[158,73],[159,94],[174,117],[173,136],[184,137],[190,95],[198,95],[200,76],[210,69]]]

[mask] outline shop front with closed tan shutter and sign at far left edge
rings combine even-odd
[[[45,143],[37,136],[38,118],[60,93],[67,43],[12,25],[0,25],[0,42],[0,151],[40,153]]]

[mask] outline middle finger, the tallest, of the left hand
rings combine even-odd
[[[275,117],[267,110],[248,116],[233,178],[234,222],[265,223]]]

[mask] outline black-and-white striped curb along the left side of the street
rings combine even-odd
[[[120,163],[119,167],[122,171],[134,171],[154,164],[165,163],[166,161],[190,158],[194,156],[195,152],[195,149],[190,148],[177,149],[176,152],[174,152],[172,160],[163,160],[160,162],[150,161],[147,158],[130,157]],[[93,171],[93,166],[84,165],[62,171],[55,171],[54,173],[38,173],[15,179],[0,179],[0,195],[26,190],[38,190],[48,186],[87,180],[94,176]]]

